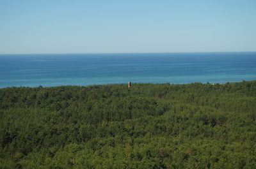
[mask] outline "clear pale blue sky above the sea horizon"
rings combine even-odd
[[[256,51],[256,1],[0,0],[0,54]]]

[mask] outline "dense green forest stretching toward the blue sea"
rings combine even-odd
[[[0,168],[256,168],[256,81],[0,89]]]

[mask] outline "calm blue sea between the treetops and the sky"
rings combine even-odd
[[[0,87],[256,80],[256,52],[0,55]]]

